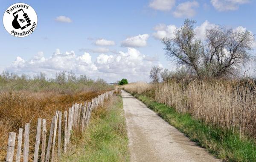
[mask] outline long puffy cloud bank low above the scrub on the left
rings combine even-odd
[[[85,68],[86,67],[86,68]],[[18,56],[6,70],[13,72],[48,73],[60,70],[72,70],[79,73],[93,72],[97,70],[89,53],[76,56],[74,51],[61,53],[59,49],[49,58],[44,57],[43,52],[38,52],[32,59],[24,60]]]

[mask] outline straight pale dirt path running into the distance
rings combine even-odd
[[[131,162],[218,162],[144,103],[122,90]]]

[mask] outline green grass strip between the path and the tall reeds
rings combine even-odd
[[[238,132],[209,126],[189,114],[180,114],[174,108],[152,101],[144,95],[133,95],[218,159],[229,162],[256,162],[254,140],[240,137]]]

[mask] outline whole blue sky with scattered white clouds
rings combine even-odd
[[[1,23],[0,71],[31,76],[72,70],[108,82],[149,81],[154,65],[175,70],[160,39],[186,18],[200,39],[214,24],[256,34],[256,0],[1,0],[0,14],[14,3],[34,8],[38,25],[17,38]]]

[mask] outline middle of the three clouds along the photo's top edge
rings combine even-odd
[[[197,1],[180,3],[173,12],[173,15],[175,17],[193,17],[196,14],[195,8],[198,8],[198,6],[199,3]]]

